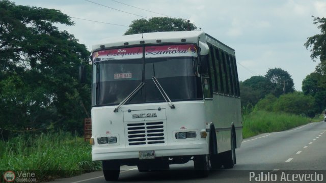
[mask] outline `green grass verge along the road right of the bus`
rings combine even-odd
[[[243,116],[243,138],[252,137],[261,133],[279,132],[314,121],[323,120],[323,116],[308,118],[287,113],[267,111],[253,111]]]

